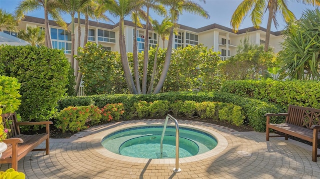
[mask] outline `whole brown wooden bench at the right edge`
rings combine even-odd
[[[287,113],[265,114],[266,116],[266,141],[269,137],[284,137],[288,140],[288,135],[294,136],[312,143],[312,161],[316,162],[317,144],[319,141],[318,132],[320,129],[320,109],[306,108],[290,105]],[[285,116],[285,122],[281,124],[270,124],[271,116]],[[284,133],[280,136],[270,136],[269,129]]]

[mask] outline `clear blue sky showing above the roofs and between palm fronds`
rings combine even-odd
[[[17,6],[17,4],[21,0],[0,0],[0,8],[8,11],[8,12],[13,12],[14,8]],[[188,14],[184,12],[178,20],[179,24],[194,27],[194,28],[199,28],[203,27],[212,23],[217,23],[226,27],[230,27],[230,19],[233,11],[237,7],[237,5],[241,2],[241,0],[206,0],[206,3],[202,3],[198,1],[198,3],[206,10],[208,11],[210,18],[209,19],[204,19],[202,17],[199,17],[197,15],[193,14]],[[296,0],[288,0],[288,7],[289,9],[294,13],[296,18],[300,18],[302,12],[306,9],[314,9],[312,5],[304,5],[302,3],[298,3]],[[28,12],[26,15],[30,16],[35,16],[35,17],[40,17],[43,18],[43,11],[38,10],[34,12]],[[71,18],[69,17],[68,14],[63,16],[66,22],[70,22]],[[110,15],[108,17],[113,21],[113,22],[118,22],[117,18],[114,18]],[[151,16],[154,19],[157,19],[159,21],[162,20],[163,17],[159,17],[157,15],[152,15]],[[129,19],[128,19],[129,20]],[[272,24],[271,30],[272,31],[277,31],[277,30],[282,30],[285,27],[285,22],[282,20],[282,17],[280,14],[277,15],[277,20],[279,23],[278,29],[274,27]],[[267,13],[264,15],[264,21],[261,24],[262,27],[266,27],[266,21],[267,21]],[[105,22],[108,23],[108,22]],[[252,22],[250,21],[249,17],[246,17],[242,24],[240,25],[241,28],[246,28],[246,27],[251,27]]]

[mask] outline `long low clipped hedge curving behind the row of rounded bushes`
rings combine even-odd
[[[170,103],[181,101],[219,101],[224,103],[232,103],[240,106],[243,109],[244,116],[248,120],[248,124],[253,127],[255,131],[265,131],[265,113],[280,113],[284,112],[280,105],[274,103],[265,102],[261,100],[251,99],[247,97],[241,97],[238,95],[226,93],[226,92],[168,92],[151,95],[94,95],[85,97],[65,97],[58,102],[58,110],[64,109],[68,106],[76,106],[86,102],[94,102],[99,108],[106,104],[111,103],[123,103],[125,111],[130,111],[134,102],[146,101],[153,102],[156,100],[166,100]],[[71,101],[73,104],[71,104]],[[275,123],[271,119],[272,123]]]

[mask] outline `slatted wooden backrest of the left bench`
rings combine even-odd
[[[15,113],[6,113],[1,114],[2,121],[4,124],[4,128],[10,129],[10,132],[7,133],[7,138],[12,138],[14,136],[17,136],[20,134],[20,129],[16,125],[17,119]],[[6,123],[7,121],[10,121],[11,124]],[[8,124],[8,125],[6,125]]]

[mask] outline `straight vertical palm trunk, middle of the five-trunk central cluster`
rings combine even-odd
[[[146,79],[148,73],[148,60],[149,60],[149,7],[146,7],[146,22],[145,22],[145,35],[144,35],[144,60],[143,60],[143,75],[142,75],[142,94],[146,91]]]

